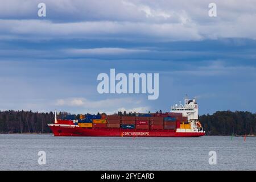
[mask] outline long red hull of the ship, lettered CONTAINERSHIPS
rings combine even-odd
[[[175,130],[84,128],[77,126],[49,125],[55,136],[69,137],[201,137],[205,133],[177,133]]]

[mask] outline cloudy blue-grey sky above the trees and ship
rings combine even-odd
[[[152,113],[188,94],[199,114],[255,113],[255,19],[253,0],[0,0],[0,110]],[[159,73],[158,99],[99,94],[111,68]]]

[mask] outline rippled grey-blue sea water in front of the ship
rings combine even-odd
[[[38,152],[46,152],[46,165]],[[210,165],[209,151],[217,164]],[[0,135],[0,170],[256,170],[256,137]]]

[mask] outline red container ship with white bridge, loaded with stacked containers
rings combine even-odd
[[[68,137],[200,137],[205,135],[198,120],[195,99],[184,99],[167,113],[134,115],[67,115],[48,124],[54,136]]]

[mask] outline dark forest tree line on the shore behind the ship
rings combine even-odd
[[[162,113],[162,111],[159,111]],[[58,115],[63,118],[69,113]],[[100,113],[98,113],[100,114]],[[118,115],[135,113],[118,112]],[[79,114],[76,115],[79,118]],[[201,115],[199,121],[208,135],[245,135],[256,134],[256,113],[248,111],[217,111]],[[30,111],[0,111],[0,133],[51,133],[47,123],[54,122],[54,114]]]

